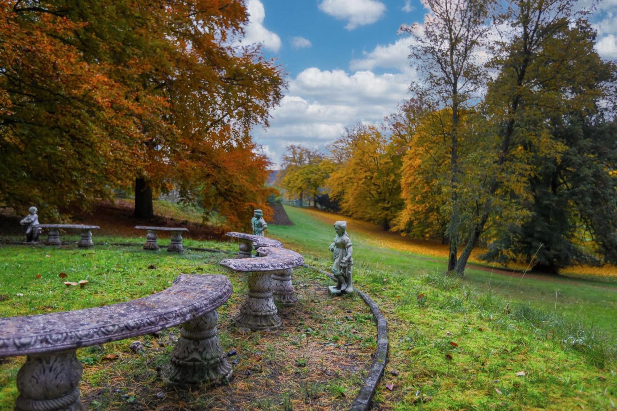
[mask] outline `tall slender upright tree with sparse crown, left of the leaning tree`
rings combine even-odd
[[[412,83],[411,91],[423,99],[431,110],[450,109],[451,127],[443,130],[449,140],[449,178],[452,214],[449,218],[448,270],[457,262],[459,180],[459,122],[466,107],[478,97],[486,74],[476,54],[484,46],[489,30],[491,0],[425,0],[429,12],[424,25],[402,26],[416,44],[411,47],[412,64],[417,63],[423,78]]]

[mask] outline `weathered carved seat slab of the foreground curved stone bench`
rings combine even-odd
[[[170,288],[133,301],[0,318],[0,357],[75,349],[154,333],[201,317],[230,296],[231,283],[224,275],[180,275]]]

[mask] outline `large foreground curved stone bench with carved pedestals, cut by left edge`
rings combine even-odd
[[[180,275],[144,298],[84,310],[0,318],[0,358],[27,355],[17,373],[15,410],[81,410],[77,348],[133,338],[182,325],[163,367],[175,384],[217,383],[231,377],[217,336],[217,307],[231,296],[224,275]]]

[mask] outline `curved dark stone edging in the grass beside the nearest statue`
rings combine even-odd
[[[303,264],[303,266],[325,274],[331,280],[336,281],[336,278],[334,278],[331,273],[321,270],[320,268],[313,267],[309,264]],[[362,388],[360,388],[360,392],[358,393],[358,396],[355,397],[354,404],[352,404],[350,409],[351,411],[366,411],[370,408],[371,399],[373,398],[377,384],[384,373],[384,368],[386,368],[388,349],[387,320],[379,310],[379,307],[375,301],[373,301],[368,294],[360,291],[357,287],[354,289],[358,296],[360,296],[364,303],[371,309],[373,317],[377,320],[377,352],[375,353],[375,359],[373,360],[373,365],[371,365],[371,369],[364,380],[364,384],[362,384]]]

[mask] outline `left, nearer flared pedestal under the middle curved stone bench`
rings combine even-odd
[[[273,331],[283,325],[272,299],[271,271],[252,272],[249,276],[249,292],[233,319],[234,325],[245,331]]]

